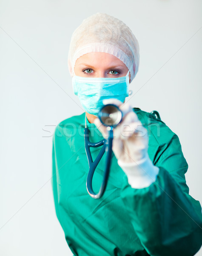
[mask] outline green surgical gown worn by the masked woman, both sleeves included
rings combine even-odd
[[[91,198],[86,190],[85,113],[65,119],[55,129],[54,202],[74,256],[192,256],[201,247],[201,206],[188,194],[188,164],[179,138],[151,113],[134,111],[148,130],[148,154],[159,174],[149,187],[133,189],[112,154],[108,185],[100,199]],[[88,120],[87,125],[90,141],[100,141],[96,126]],[[93,160],[99,151],[91,148]],[[95,192],[104,166],[105,155],[94,174]]]

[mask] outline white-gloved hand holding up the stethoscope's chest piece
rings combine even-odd
[[[139,121],[137,114],[128,103],[117,99],[106,99],[106,104],[117,105],[125,113],[121,123],[114,128],[112,150],[118,164],[128,176],[128,183],[133,188],[143,188],[156,180],[159,168],[154,166],[148,156],[148,132]],[[107,127],[96,118],[94,124],[107,138]]]

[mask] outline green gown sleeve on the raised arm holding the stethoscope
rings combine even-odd
[[[179,138],[166,125],[162,125],[160,137],[152,129],[151,133],[159,143],[153,158],[154,165],[159,167],[156,181],[142,189],[123,186],[122,200],[150,255],[194,255],[202,244],[201,206],[188,195],[188,164]]]

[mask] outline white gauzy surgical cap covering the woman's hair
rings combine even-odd
[[[131,73],[139,67],[139,44],[131,29],[121,20],[104,13],[94,14],[81,23],[71,37],[68,67],[74,76],[77,58],[88,52],[106,52],[119,58]]]

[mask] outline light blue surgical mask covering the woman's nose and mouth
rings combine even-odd
[[[74,76],[72,85],[84,110],[97,116],[103,106],[103,99],[113,98],[124,102],[125,97],[128,97],[129,70],[126,76],[116,78]]]

